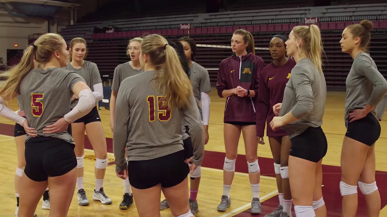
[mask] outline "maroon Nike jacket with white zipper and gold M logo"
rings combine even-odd
[[[233,54],[221,62],[216,83],[219,97],[223,98],[223,90],[230,90],[237,86],[255,92],[255,97],[237,95],[228,97],[224,108],[224,122],[256,122],[258,79],[264,67],[264,60],[251,52],[241,58]]]

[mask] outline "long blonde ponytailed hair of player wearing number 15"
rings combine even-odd
[[[168,41],[156,34],[145,36],[141,43],[141,51],[147,54],[157,75],[154,78],[158,91],[170,108],[183,108],[189,103],[192,86],[180,64],[179,57],[168,45]]]

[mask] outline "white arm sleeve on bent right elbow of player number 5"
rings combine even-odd
[[[78,120],[81,117],[87,115],[92,110],[92,108],[96,106],[96,98],[94,97],[91,90],[81,90],[78,97],[78,104],[74,107],[73,110],[65,114],[64,119],[69,123],[72,123],[75,120]]]

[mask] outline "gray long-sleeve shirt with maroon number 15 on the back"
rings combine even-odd
[[[155,71],[145,71],[122,81],[118,90],[114,116],[113,147],[116,171],[127,169],[129,161],[149,160],[183,150],[179,112],[190,129],[194,147],[194,164],[200,166],[204,155],[204,130],[195,97],[190,104],[168,110],[155,88]]]

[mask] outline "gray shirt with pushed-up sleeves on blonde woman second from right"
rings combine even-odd
[[[291,112],[299,119],[282,127],[288,132],[290,139],[300,135],[308,127],[322,125],[326,97],[324,74],[317,70],[309,58],[301,59],[291,70],[279,114],[284,116]]]

